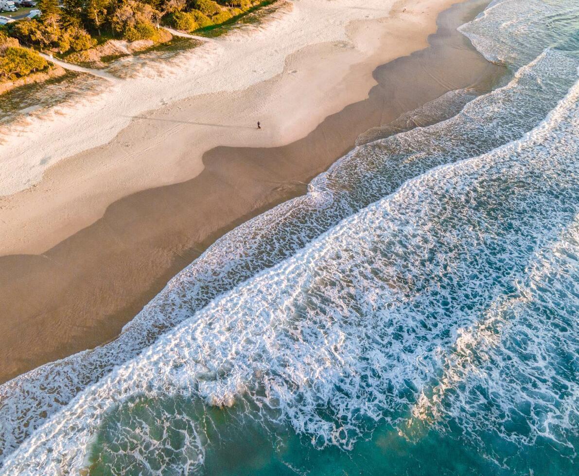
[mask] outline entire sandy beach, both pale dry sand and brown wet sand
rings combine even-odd
[[[362,132],[503,72],[456,31],[484,2],[358,3],[288,2],[187,53],[190,70],[119,80],[0,146],[0,382],[114,338],[216,238],[303,193]]]

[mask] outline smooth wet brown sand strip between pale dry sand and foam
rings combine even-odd
[[[449,89],[477,85],[482,92],[492,86],[502,69],[483,60],[450,25],[457,20],[464,23],[462,16],[470,19],[474,15],[468,12],[486,6],[477,3],[477,7],[463,3],[445,8],[446,15],[437,14],[441,27],[426,50],[372,68],[369,80],[358,79],[362,86],[377,83],[368,87],[367,99],[328,114],[303,138],[278,147],[214,147],[203,154],[203,168],[194,178],[115,201],[102,218],[40,256],[0,257],[0,289],[12,296],[2,303],[7,311],[0,322],[0,381],[115,338],[168,279],[211,242],[250,217],[302,194],[305,183],[351,150],[362,132]],[[300,61],[306,59],[291,58],[288,64],[305,67]],[[365,72],[364,67],[356,68],[350,71],[351,79],[356,81]],[[279,83],[257,86],[255,95]],[[182,109],[199,107],[201,99],[190,99]],[[173,125],[172,121],[181,120],[169,116],[178,115],[170,109],[157,110],[155,120],[149,122]],[[133,126],[138,129],[139,123],[133,121]],[[29,296],[30,289],[35,289],[34,296]],[[28,301],[23,302],[23,296]],[[16,361],[14,355],[28,358]]]

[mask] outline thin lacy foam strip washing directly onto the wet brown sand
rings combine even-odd
[[[510,84],[471,102],[456,117],[358,147],[314,179],[305,197],[250,220],[215,243],[127,324],[118,340],[2,385],[4,455],[76,393],[133,358],[164,330],[292,256],[343,217],[431,167],[488,151],[524,134],[565,94],[575,69],[572,57],[549,51],[522,68]],[[514,109],[516,116],[510,113]],[[50,391],[46,382],[52,382]]]

